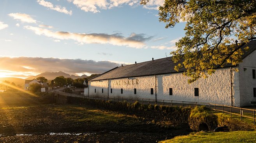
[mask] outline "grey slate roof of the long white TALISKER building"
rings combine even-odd
[[[245,51],[245,47],[249,47],[249,51]],[[244,55],[242,59],[247,57],[253,51],[256,50],[256,40],[249,42],[247,45],[242,47],[244,51]],[[113,78],[126,78],[126,77],[139,77],[139,76],[147,76],[147,75],[159,75],[166,73],[177,73],[174,70],[174,66],[178,63],[174,63],[171,60],[172,57],[155,59],[153,61],[145,61],[142,63],[126,65],[126,66],[118,66],[109,70],[108,72],[102,73],[94,78],[91,78],[89,81],[94,80],[105,80],[105,79],[113,79]],[[181,63],[182,61],[180,61]],[[231,65],[225,65],[224,67],[230,67]],[[179,72],[184,72],[185,68],[179,69]]]

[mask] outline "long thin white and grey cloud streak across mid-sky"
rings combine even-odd
[[[146,37],[145,34],[132,33],[129,37],[125,38],[120,33],[105,34],[105,33],[71,33],[64,31],[51,31],[44,28],[34,26],[24,26],[25,29],[34,31],[37,35],[45,35],[47,37],[56,38],[59,40],[75,40],[80,44],[111,44],[118,46],[127,46],[134,48],[143,48],[146,44],[143,42],[152,37]]]

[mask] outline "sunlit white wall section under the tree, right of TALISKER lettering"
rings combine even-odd
[[[231,72],[235,74],[234,71]],[[231,78],[230,68],[217,69],[208,78],[200,78],[188,84],[188,77],[181,73],[161,75],[162,86],[159,86],[157,98],[160,100],[178,100],[203,103],[215,103],[231,105]],[[232,76],[237,83],[237,78]],[[169,95],[169,88],[172,88],[173,95]],[[199,89],[199,96],[194,96],[194,88]]]

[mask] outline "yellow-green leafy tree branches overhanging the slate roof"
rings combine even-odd
[[[256,39],[255,0],[165,0],[159,16],[166,28],[187,22],[185,36],[170,54],[180,61],[175,70],[186,68],[189,83],[226,64],[237,65],[244,54],[241,47]]]

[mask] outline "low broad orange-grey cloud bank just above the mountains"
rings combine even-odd
[[[19,74],[23,75],[58,71],[73,75],[76,73],[103,73],[120,66],[119,63],[111,61],[39,57],[0,57],[0,65],[3,71],[19,71]]]

